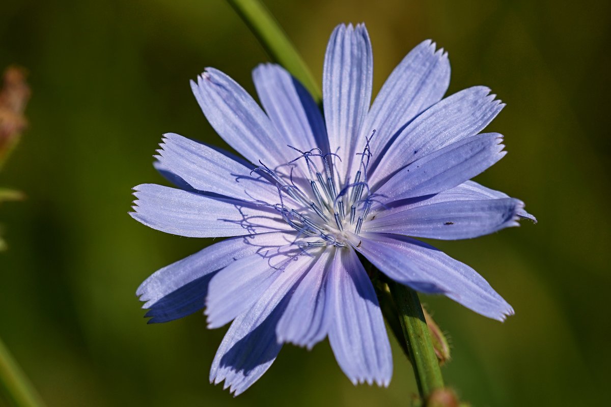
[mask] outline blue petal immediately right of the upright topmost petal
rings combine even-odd
[[[443,49],[436,52],[431,40],[409,51],[384,82],[362,126],[361,142],[376,129],[370,144],[372,167],[414,117],[441,100],[449,84],[447,52]]]

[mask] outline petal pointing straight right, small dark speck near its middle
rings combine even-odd
[[[409,207],[409,204],[406,205]],[[367,232],[398,233],[430,239],[457,240],[519,226],[524,203],[514,198],[447,201],[381,212],[363,226]]]

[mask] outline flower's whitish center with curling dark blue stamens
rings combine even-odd
[[[308,247],[345,247],[354,243],[371,209],[373,195],[367,184],[367,167],[371,152],[367,138],[354,177],[339,174],[334,163],[336,153],[324,154],[320,148],[301,151],[296,159],[274,170],[257,167],[278,188],[276,209],[293,229],[299,232],[300,244]],[[299,165],[301,164],[301,165]],[[281,168],[282,167],[282,168]],[[349,180],[352,179],[352,182]]]

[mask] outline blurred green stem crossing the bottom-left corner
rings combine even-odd
[[[0,339],[0,391],[15,407],[42,407],[40,396]]]

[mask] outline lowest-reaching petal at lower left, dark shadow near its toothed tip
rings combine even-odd
[[[224,388],[238,395],[269,369],[282,348],[276,338],[276,324],[287,306],[288,293],[307,272],[310,262],[307,256],[290,262],[252,308],[233,321],[214,356],[211,383],[224,380]]]

